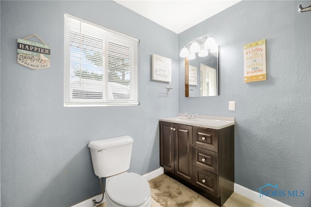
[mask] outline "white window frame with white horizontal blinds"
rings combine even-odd
[[[73,19],[73,20],[72,20]],[[73,55],[71,54],[71,38],[73,35],[73,29],[75,26],[75,23],[72,23],[73,27],[69,27],[69,25],[67,24],[68,21],[75,21],[79,22],[80,24],[80,42],[85,40],[85,38],[87,37],[81,37],[81,36],[86,36],[87,33],[83,33],[81,32],[81,28],[84,26],[81,26],[83,24],[87,24],[87,26],[90,25],[90,27],[96,27],[96,30],[99,31],[103,31],[103,34],[99,35],[99,39],[100,39],[100,45],[103,44],[103,51],[102,51],[102,61],[103,61],[103,77],[102,77],[102,82],[101,84],[103,86],[100,86],[100,92],[94,92],[92,91],[93,88],[90,88],[90,91],[84,90],[83,92],[77,92],[78,94],[80,94],[80,97],[84,97],[84,98],[74,98],[73,97],[73,79],[71,79],[70,76],[72,76],[72,74],[70,75],[70,72],[72,73],[74,71],[73,66],[70,66],[70,58],[73,58]],[[77,26],[79,27],[79,26]],[[71,29],[71,31],[70,31]],[[94,30],[95,31],[95,30]],[[75,32],[76,33],[76,32]],[[81,35],[82,34],[82,35]],[[102,39],[101,39],[102,38]],[[77,38],[76,38],[77,39]],[[76,40],[75,39],[75,40]],[[72,40],[73,41],[73,40]],[[85,44],[85,43],[83,43]],[[115,59],[111,58],[109,55],[114,54],[115,56],[117,55],[118,51],[114,53],[113,49],[110,50],[108,45],[112,45],[114,44],[114,47],[117,48],[116,50],[119,51],[120,50],[128,50],[125,52],[128,52],[128,57],[129,57],[129,81],[127,80],[127,82],[129,83],[129,86],[126,85],[121,85],[121,83],[118,83],[118,79],[120,79],[120,77],[116,77],[116,78],[112,78],[109,79],[108,77],[108,71],[114,71],[116,72],[118,70],[117,69],[113,69],[111,67],[111,65],[109,65],[109,60],[110,62],[112,62],[112,64],[114,64],[115,62],[113,62]],[[118,47],[118,45],[120,47]],[[101,46],[99,46],[101,47]],[[80,53],[86,52],[86,49],[82,49],[82,44],[80,44],[80,46],[78,45],[76,48],[78,48],[78,50],[80,51]],[[112,48],[112,47],[111,47]],[[123,49],[122,49],[123,48]],[[121,51],[123,52],[123,51]],[[73,53],[73,52],[72,52]],[[124,57],[125,58],[125,57]],[[86,59],[86,58],[84,58]],[[77,60],[77,58],[75,59]],[[126,59],[127,60],[127,59]],[[123,63],[126,62],[125,59],[123,59]],[[86,70],[86,74],[91,71],[84,69],[81,66],[81,62],[82,57],[80,55],[80,67],[78,70],[83,71]],[[122,63],[122,62],[116,62],[117,63]],[[95,64],[94,64],[95,67]],[[110,68],[109,68],[110,67]],[[120,68],[121,71],[121,68]],[[81,73],[80,73],[81,74]],[[77,79],[77,78],[76,78]],[[83,78],[81,75],[80,77],[78,77],[78,79],[80,80],[80,82],[78,84],[80,84],[79,86],[81,88],[84,88],[84,86],[82,86],[83,84],[88,84],[89,87],[92,87],[92,82],[97,82],[95,80],[88,80],[88,78]],[[92,79],[92,78],[89,78]],[[125,79],[125,78],[124,78]],[[71,81],[70,81],[71,80]],[[123,80],[125,81],[125,80]],[[100,83],[97,82],[97,83]],[[122,80],[120,79],[119,82],[122,82]],[[96,84],[97,84],[96,83]],[[94,85],[96,85],[94,84]],[[109,84],[109,86],[108,86]],[[121,90],[123,88],[127,88],[129,90],[129,98],[127,98],[127,95],[120,95],[119,98],[115,99],[114,95],[112,96],[111,94],[113,94],[113,85],[111,86],[111,84],[114,84],[115,88],[119,87],[119,90]],[[124,84],[124,83],[123,83]],[[79,87],[78,86],[78,87]],[[95,86],[94,86],[95,87]],[[98,86],[96,86],[97,89]],[[121,89],[120,89],[121,88]],[[77,90],[76,90],[77,91]],[[94,96],[89,95],[88,92],[90,92],[91,94],[99,94],[102,93],[102,98],[101,96],[98,96],[99,98],[94,98]],[[81,95],[83,94],[83,95]],[[96,95],[95,95],[96,96]],[[77,96],[79,97],[79,96]],[[89,98],[92,97],[92,98]],[[139,39],[128,36],[128,35],[124,35],[122,33],[119,33],[117,31],[114,30],[110,30],[108,28],[105,28],[101,25],[95,24],[93,22],[87,21],[85,19],[79,18],[79,17],[75,17],[73,15],[70,14],[65,14],[65,20],[64,20],[64,106],[120,106],[120,105],[139,105]]]

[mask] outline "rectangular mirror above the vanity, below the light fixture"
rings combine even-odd
[[[206,57],[185,58],[186,97],[218,96],[218,81],[218,46]]]

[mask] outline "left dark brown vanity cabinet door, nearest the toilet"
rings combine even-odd
[[[173,123],[160,121],[160,166],[174,173]]]

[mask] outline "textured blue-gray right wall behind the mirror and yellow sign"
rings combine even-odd
[[[298,13],[301,2],[311,3],[241,1],[178,36],[179,49],[208,33],[220,45],[220,96],[185,98],[180,81],[179,112],[234,117],[235,182],[304,190],[304,197],[273,197],[295,207],[311,206],[311,12]],[[244,83],[243,46],[260,39],[267,80]],[[183,80],[182,59],[179,70]]]

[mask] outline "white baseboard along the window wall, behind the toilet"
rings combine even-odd
[[[157,176],[159,176],[159,175],[161,175],[161,174],[163,174],[164,173],[164,170],[163,170],[163,168],[162,167],[160,167],[160,168],[158,168],[158,169],[156,169],[156,170],[154,170],[154,171],[152,171],[152,172],[150,172],[150,173],[146,173],[146,174],[144,174],[144,175],[142,175],[146,180],[152,180],[152,179],[154,179],[155,177],[157,177]],[[96,200],[96,201],[100,201],[101,199],[102,199],[102,196],[103,196],[103,193],[101,193],[101,194],[99,194],[99,195],[96,195],[96,196],[94,196],[93,198],[89,198],[89,199],[87,199],[87,200],[85,200],[85,201],[82,201],[81,203],[78,203],[78,204],[76,204],[76,205],[73,205],[73,206],[71,206],[71,207],[94,207],[94,205],[93,205],[93,200]],[[103,201],[100,203],[100,204],[102,204],[102,203],[104,203],[104,202],[106,202],[106,196],[104,195],[104,199],[103,199]],[[100,204],[98,204],[98,205],[100,205]],[[97,206],[98,206],[97,205]]]

